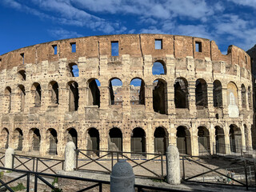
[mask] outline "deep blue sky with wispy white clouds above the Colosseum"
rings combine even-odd
[[[1,0],[0,54],[62,38],[181,34],[229,45],[256,44],[255,0]]]

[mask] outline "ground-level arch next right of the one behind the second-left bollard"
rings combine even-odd
[[[96,154],[99,156],[99,133],[96,128],[90,128],[88,130],[88,136],[87,137],[87,150],[92,150],[90,151],[89,154]]]

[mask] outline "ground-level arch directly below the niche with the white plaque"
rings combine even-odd
[[[230,125],[230,151],[240,153],[242,147],[242,134],[238,126]]]

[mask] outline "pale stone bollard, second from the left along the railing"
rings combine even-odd
[[[66,143],[64,170],[73,171],[76,165],[76,152],[74,142]]]

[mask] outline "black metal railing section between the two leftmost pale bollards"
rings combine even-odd
[[[56,168],[57,170],[63,170],[64,160],[13,154],[13,168],[19,170],[35,171],[39,173],[47,171],[51,174],[57,174],[54,168]]]

